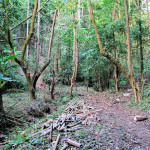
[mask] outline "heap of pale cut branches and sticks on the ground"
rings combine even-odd
[[[61,114],[56,119],[49,119],[44,124],[41,125],[41,131],[33,133],[29,136],[30,143],[33,143],[37,138],[49,135],[49,142],[53,144],[53,150],[56,149],[58,142],[62,133],[75,132],[84,127],[84,125],[97,124],[100,121],[100,112],[102,110],[94,110],[91,106],[85,106],[84,102],[71,102],[69,103],[63,114]],[[57,138],[54,138],[53,132],[58,133]],[[61,133],[61,134],[60,134]],[[75,147],[82,147],[82,144],[77,143],[69,138],[62,138],[64,146],[62,149],[66,149],[68,146],[72,145]]]

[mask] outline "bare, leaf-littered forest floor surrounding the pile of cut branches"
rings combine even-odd
[[[43,91],[41,84],[38,83],[38,101],[43,100]],[[69,98],[69,87],[57,87],[56,88],[56,100],[53,102],[48,102],[47,105],[51,107],[50,115],[46,114],[43,118],[37,119],[31,114],[27,114],[29,111],[29,106],[34,105],[34,102],[25,100],[28,96],[26,93],[23,95],[20,94],[18,97],[18,102],[20,103],[15,116],[19,111],[24,110],[25,121],[29,122],[30,125],[26,125],[21,128],[12,128],[6,135],[5,141],[13,141],[5,146],[1,146],[2,149],[52,149],[52,145],[49,143],[49,136],[43,136],[36,139],[34,143],[30,142],[28,136],[40,130],[41,125],[49,120],[50,118],[59,117],[67,103],[71,103]],[[12,97],[12,98],[11,98]],[[47,100],[49,100],[49,92],[47,91]],[[9,98],[16,101],[17,98],[13,94],[9,95]],[[5,105],[8,105],[8,95],[4,96]],[[58,149],[61,149],[64,139],[70,138],[74,141],[80,142],[83,144],[83,147],[80,149],[83,150],[101,150],[101,149],[111,149],[111,150],[120,150],[120,149],[134,149],[134,150],[149,150],[150,149],[150,120],[145,120],[141,122],[135,122],[135,115],[144,115],[150,118],[149,111],[141,111],[137,107],[129,107],[129,101],[132,98],[131,90],[126,90],[123,92],[115,93],[112,90],[102,92],[100,95],[98,92],[89,90],[88,94],[85,87],[79,87],[78,91],[74,91],[73,101],[78,103],[84,102],[86,106],[93,107],[94,110],[102,110],[98,114],[97,121],[95,123],[87,123],[81,125],[81,129],[75,132],[61,133],[61,139],[58,144]],[[26,105],[25,105],[26,102]],[[14,102],[13,102],[14,103]],[[11,112],[12,113],[12,112]],[[19,117],[18,117],[19,118]],[[18,131],[19,129],[19,131]],[[15,131],[15,132],[12,132]],[[53,133],[53,141],[56,140],[58,132]],[[2,135],[2,134],[1,134]],[[14,139],[21,136],[26,137],[27,141],[16,142]],[[78,149],[72,146],[67,148]]]

